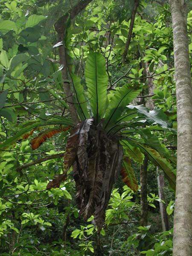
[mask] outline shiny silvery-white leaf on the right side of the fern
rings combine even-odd
[[[138,113],[145,116],[150,124],[158,124],[163,128],[171,127],[171,124],[167,120],[166,114],[161,108],[155,107],[153,110],[148,110],[144,105],[128,105],[127,108],[134,109]]]

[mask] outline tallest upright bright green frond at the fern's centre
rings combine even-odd
[[[85,79],[90,106],[96,123],[98,123],[105,113],[108,86],[105,58],[101,54],[90,52],[88,55],[85,65]]]

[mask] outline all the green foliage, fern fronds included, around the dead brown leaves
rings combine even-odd
[[[0,0],[1,255],[94,255],[100,253],[99,241],[102,255],[171,256],[172,230],[161,233],[156,181],[159,166],[175,189],[177,107],[169,5],[140,1],[122,64],[134,1],[92,1],[68,19],[65,38],[58,38],[56,20],[68,17],[78,0],[69,2]],[[189,12],[189,29],[191,16]],[[63,44],[66,80],[65,67],[59,64]],[[191,45],[189,36],[190,52]],[[68,131],[36,151],[30,146],[44,127],[73,127],[64,81],[70,85],[79,119],[94,116],[110,136],[121,138],[124,156],[131,159],[128,174],[134,174],[139,185],[140,165],[148,155],[147,227],[139,223],[140,186],[133,192],[117,180],[99,238],[93,218],[85,222],[79,217],[71,169],[59,188],[46,190],[48,179],[63,172],[63,159],[30,166],[64,153]],[[148,90],[151,81],[153,93]],[[153,110],[146,107],[148,99]],[[29,166],[18,171],[23,165]],[[172,189],[165,181],[171,227]]]

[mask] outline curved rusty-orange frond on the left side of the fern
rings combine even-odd
[[[67,127],[64,127],[64,128],[59,128],[59,129],[53,128],[53,129],[49,129],[49,130],[43,131],[41,134],[39,134],[37,137],[35,137],[31,141],[32,149],[33,150],[37,149],[48,138],[51,138],[55,134],[58,134],[58,133],[60,133],[62,131],[67,131],[69,129],[70,129],[70,126],[67,126]]]

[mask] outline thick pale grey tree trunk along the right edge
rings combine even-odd
[[[177,182],[173,255],[192,256],[192,85],[183,0],[170,0],[177,96]]]

